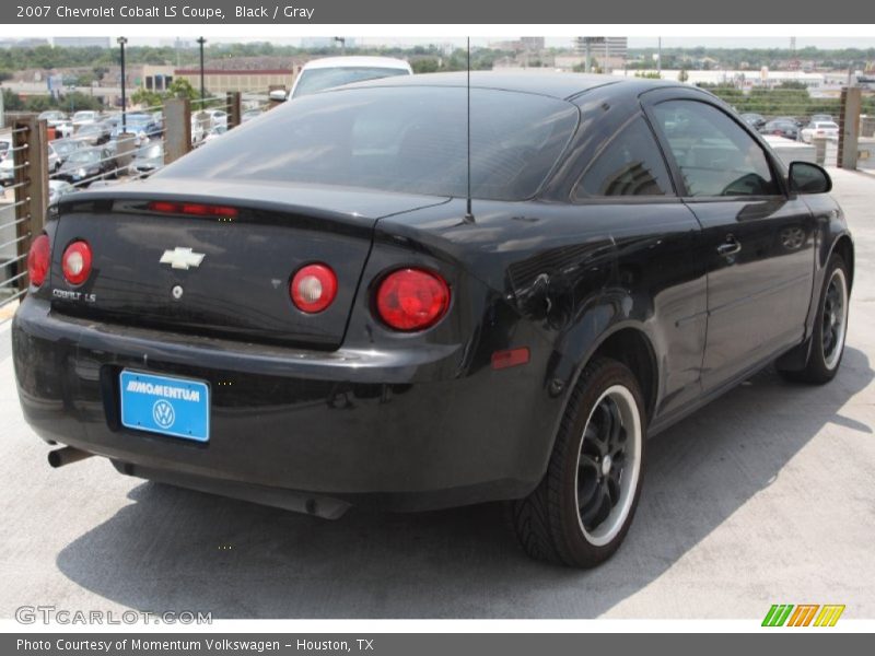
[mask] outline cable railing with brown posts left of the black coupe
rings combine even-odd
[[[252,108],[253,102],[247,101],[247,106]],[[261,104],[256,106],[261,108]],[[104,119],[101,129],[83,130],[80,126],[71,136],[58,136],[52,141],[45,120],[34,115],[15,116],[11,128],[3,130],[13,140],[7,151],[13,159],[13,179],[0,191],[0,308],[27,291],[27,253],[31,241],[43,230],[50,200],[98,184],[145,178],[202,145],[208,134],[218,136],[238,126],[242,113],[240,93],[202,102],[168,99],[162,105],[129,109],[124,121],[118,114],[110,124]],[[199,139],[192,139],[192,133],[199,132],[196,127],[205,130]],[[63,154],[59,155],[56,149],[61,147]],[[155,149],[158,160],[152,156]],[[49,152],[54,153],[51,159]],[[0,320],[3,316],[8,313],[0,314]]]

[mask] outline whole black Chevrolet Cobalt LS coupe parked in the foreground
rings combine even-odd
[[[465,82],[295,99],[52,207],[12,333],[50,461],[323,517],[506,500],[592,566],[648,435],[774,361],[836,375],[826,172],[698,89],[574,74],[474,74],[468,160]]]

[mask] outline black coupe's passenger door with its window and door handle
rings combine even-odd
[[[814,218],[788,194],[778,163],[728,110],[704,94],[654,101],[649,116],[703,231],[707,393],[803,339],[814,280]]]

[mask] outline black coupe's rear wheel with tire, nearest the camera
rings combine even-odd
[[[509,503],[523,550],[571,567],[610,558],[638,506],[645,433],[629,367],[610,359],[590,363],[571,393],[547,473],[532,494]]]

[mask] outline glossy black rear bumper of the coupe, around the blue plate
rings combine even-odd
[[[460,374],[462,347],[300,351],[94,324],[34,297],[12,340],[22,408],[40,437],[210,492],[402,511],[514,499],[535,488],[552,446],[558,401],[534,355],[525,367]],[[122,427],[124,368],[206,380],[209,443]]]

